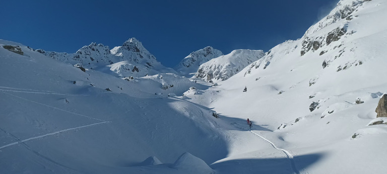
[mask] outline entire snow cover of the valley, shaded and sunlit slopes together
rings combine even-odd
[[[85,72],[70,54],[53,59],[0,40],[0,172],[385,173],[387,119],[376,118],[375,108],[387,92],[386,5],[342,0],[303,38],[275,46],[218,85],[179,73],[254,51],[197,59],[196,70],[179,73],[160,63],[135,76],[131,68],[145,66],[138,53],[150,56],[135,39],[109,56],[138,61],[77,61]],[[329,33],[343,27],[328,44]]]

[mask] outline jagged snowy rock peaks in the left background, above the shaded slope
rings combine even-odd
[[[125,41],[122,46],[114,47],[111,50],[108,46],[93,42],[82,47],[76,53],[58,53],[42,49],[39,51],[46,56],[66,63],[82,64],[86,68],[121,77],[176,73],[172,68],[167,68],[158,62],[156,57],[136,38],[131,38]]]

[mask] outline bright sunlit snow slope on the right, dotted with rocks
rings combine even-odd
[[[326,37],[342,24],[347,24],[348,31],[354,31],[330,45],[323,44],[316,51],[310,50],[300,56],[302,39],[286,41],[201,96],[185,97],[190,97],[188,101],[214,108],[221,119],[239,119],[239,122],[232,123],[238,128],[243,127],[243,120],[250,118],[254,128],[259,130],[253,132],[292,154],[295,168],[300,173],[383,173],[386,168],[380,161],[385,153],[377,149],[381,148],[379,144],[385,143],[380,137],[386,135],[381,130],[377,130],[374,137],[365,133],[375,132],[367,125],[376,117],[374,111],[378,98],[387,89],[387,81],[381,77],[387,73],[383,68],[386,66],[383,59],[386,52],[382,47],[387,44],[386,27],[382,22],[382,17],[386,16],[383,4],[381,1],[364,2],[358,11],[353,12],[351,21],[340,19],[318,32],[306,33],[311,38]],[[367,25],[363,25],[363,20]],[[328,52],[319,55],[322,50]],[[330,61],[325,68],[321,66],[324,60]],[[349,68],[337,71],[339,66],[345,65]],[[312,83],[310,86],[309,82]],[[247,86],[246,93],[242,92],[244,86]],[[364,103],[355,104],[358,98]],[[308,108],[313,101],[320,104],[310,112]],[[384,128],[384,125],[375,126]],[[262,127],[273,132],[263,131]],[[366,131],[359,131],[363,129]],[[354,133],[360,135],[352,140]],[[243,141],[244,138],[239,136],[237,138]],[[250,154],[244,154],[240,148],[243,146],[235,145],[227,158],[210,166],[226,173],[265,172],[259,167],[240,168],[266,163],[264,159],[275,157],[263,154],[269,147],[255,147]],[[371,157],[370,154],[377,155]],[[348,159],[349,156],[364,159]],[[287,158],[284,156],[283,159],[290,164]],[[291,167],[286,171],[284,167],[273,168],[270,173],[297,172]]]

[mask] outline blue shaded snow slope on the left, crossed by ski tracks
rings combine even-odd
[[[154,93],[162,89],[141,79],[83,72],[21,47],[25,56],[0,48],[7,62],[1,65],[2,172],[139,172],[131,164],[149,156],[171,163],[183,152],[208,162],[226,155],[210,111],[159,99]]]

